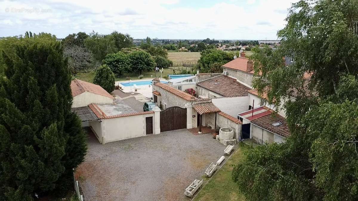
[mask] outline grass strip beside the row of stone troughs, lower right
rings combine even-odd
[[[224,164],[224,166],[214,174],[212,179],[199,191],[194,201],[208,200],[237,200],[245,201],[245,197],[238,191],[236,183],[232,181],[231,172],[233,165],[236,165],[243,158],[242,144],[236,147],[235,152]],[[227,160],[227,158],[225,158]]]

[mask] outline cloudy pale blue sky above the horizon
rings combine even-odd
[[[277,40],[297,0],[0,0],[0,36],[79,31],[133,38]]]

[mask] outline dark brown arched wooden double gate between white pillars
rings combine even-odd
[[[160,112],[160,132],[187,128],[187,109],[169,107]]]

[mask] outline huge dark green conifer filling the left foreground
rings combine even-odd
[[[59,42],[13,41],[2,50],[0,78],[0,200],[32,200],[65,192],[83,161],[86,136],[71,112],[71,76]]]

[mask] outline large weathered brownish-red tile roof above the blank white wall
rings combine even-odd
[[[250,89],[237,82],[236,79],[225,75],[200,81],[197,85],[224,97],[246,96],[247,90]]]

